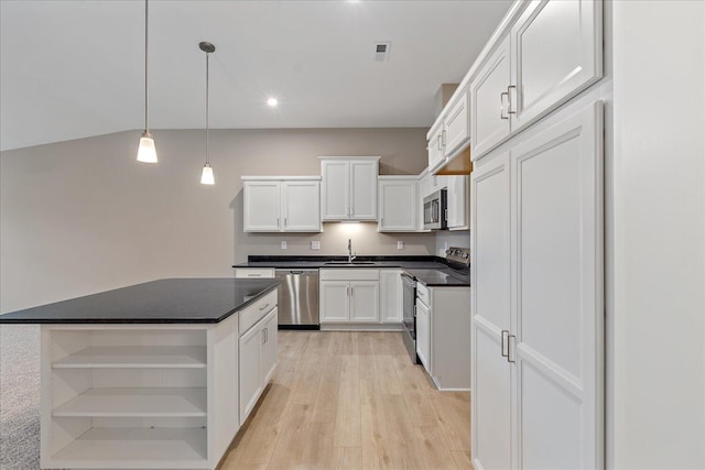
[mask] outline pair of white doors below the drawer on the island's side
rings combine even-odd
[[[240,425],[250,415],[276,367],[276,307],[240,336]]]

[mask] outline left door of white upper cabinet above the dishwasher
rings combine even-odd
[[[280,183],[245,182],[243,220],[246,232],[280,231]]]

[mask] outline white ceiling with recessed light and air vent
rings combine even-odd
[[[205,127],[200,41],[212,128],[427,127],[510,3],[152,0],[150,128]],[[143,1],[0,0],[0,149],[143,129]]]

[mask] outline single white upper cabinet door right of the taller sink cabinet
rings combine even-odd
[[[416,181],[388,179],[379,182],[379,226],[383,231],[416,230]]]

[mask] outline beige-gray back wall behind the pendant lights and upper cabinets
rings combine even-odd
[[[242,233],[240,176],[319,175],[318,155],[380,155],[381,174],[419,174],[425,131],[214,130],[215,186],[199,184],[203,130],[154,131],[156,165],[134,160],[139,131],[2,152],[0,311],[162,277],[230,276],[248,254],[344,254],[348,238],[358,254],[434,254],[435,234],[380,234],[375,223]]]

